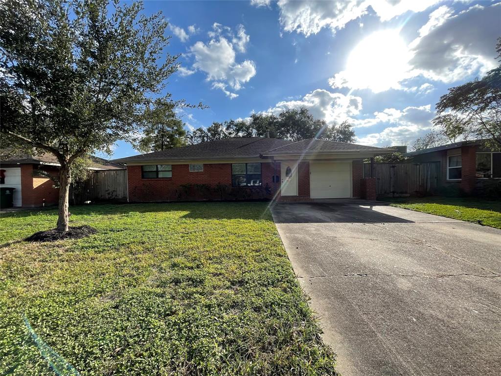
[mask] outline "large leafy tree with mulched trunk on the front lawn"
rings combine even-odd
[[[0,5],[2,142],[45,150],[60,165],[57,229],[68,231],[72,165],[172,101],[167,23],[118,0],[5,0]],[[182,101],[180,102],[183,103]]]

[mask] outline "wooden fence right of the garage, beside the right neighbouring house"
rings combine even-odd
[[[370,176],[370,163],[364,163],[364,177]],[[433,195],[440,185],[440,162],[374,163],[373,177],[379,196]]]

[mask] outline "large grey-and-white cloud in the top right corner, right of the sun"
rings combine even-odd
[[[447,7],[438,8],[411,43],[414,75],[450,83],[493,69],[499,20],[501,4],[473,6],[455,16]]]

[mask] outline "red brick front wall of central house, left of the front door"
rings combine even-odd
[[[267,198],[273,196],[273,175],[274,167],[272,163],[261,164],[262,187],[249,187],[243,189],[247,191],[249,198],[256,198],[265,195]],[[231,190],[231,163],[204,163],[202,172],[189,172],[188,164],[173,164],[171,178],[143,179],[141,177],[141,166],[128,166],[127,178],[129,185],[129,201],[176,201],[182,200],[181,186],[184,184],[205,184],[211,188],[217,185],[226,185]],[[240,189],[242,190],[242,189]],[[217,199],[219,196],[214,193],[198,192],[190,193],[195,195],[195,200]],[[245,198],[245,195],[238,196]]]

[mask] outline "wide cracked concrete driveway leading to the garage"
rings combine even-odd
[[[272,212],[349,375],[499,375],[501,231],[366,201]]]

